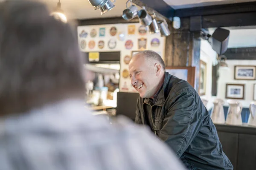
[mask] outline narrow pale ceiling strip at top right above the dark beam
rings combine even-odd
[[[163,0],[174,9],[212,6],[231,3],[253,2],[255,0]]]

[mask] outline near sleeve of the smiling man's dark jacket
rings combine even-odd
[[[169,103],[159,137],[180,157],[198,134],[203,118],[193,94],[183,92]]]

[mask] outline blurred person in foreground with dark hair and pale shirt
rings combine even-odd
[[[46,6],[0,3],[0,43],[0,170],[183,170],[145,128],[85,111],[76,35]]]

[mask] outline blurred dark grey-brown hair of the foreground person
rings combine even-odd
[[[75,31],[43,3],[0,3],[0,116],[67,98],[84,98]]]

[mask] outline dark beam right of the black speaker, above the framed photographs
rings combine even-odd
[[[223,55],[227,59],[256,59],[256,47],[228,48]]]

